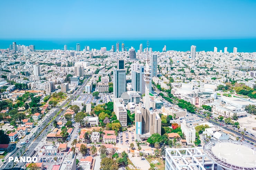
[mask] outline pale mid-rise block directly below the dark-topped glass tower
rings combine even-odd
[[[127,110],[125,109],[125,102],[121,98],[114,99],[114,112],[116,113],[117,120],[121,123],[122,127],[127,127]]]

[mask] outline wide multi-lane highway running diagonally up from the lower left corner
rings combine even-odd
[[[47,123],[49,123],[49,121],[51,121],[51,119],[58,113],[58,111],[60,111],[60,109],[62,109],[62,112],[59,114],[58,117],[60,117],[61,115],[63,115],[65,113],[65,111],[67,109],[67,106],[71,104],[72,99],[77,97],[79,95],[79,93],[82,93],[82,88],[87,84],[88,80],[89,80],[88,78],[85,79],[83,84],[79,88],[77,88],[77,90],[71,95],[70,99],[67,99],[54,112],[52,112],[46,118],[46,120],[44,121],[45,123],[42,122],[40,124],[40,126],[37,129],[36,133],[39,134],[41,131],[42,131],[42,133],[37,138],[36,137],[35,138],[31,137],[29,139],[29,141],[31,141],[30,143],[26,143],[24,146],[20,146],[18,148],[17,152],[12,155],[13,158],[20,157],[21,153],[24,153],[24,148],[26,149],[26,152],[24,153],[23,157],[34,157],[34,156],[36,156],[35,155],[35,153],[36,153],[36,151],[35,151],[36,146],[38,145],[38,143],[40,143],[42,141],[43,138],[46,137],[46,135],[48,133],[48,129],[49,128],[48,127],[44,127],[44,126],[45,125],[47,126]],[[66,107],[64,107],[65,105],[66,105]],[[58,121],[58,117],[55,118],[56,121]],[[49,126],[52,127],[53,124],[51,123]],[[11,161],[11,162],[8,162],[8,161],[9,160],[6,160],[6,163],[0,168],[1,170],[10,170],[10,169],[12,169],[12,170],[25,170],[26,169],[26,164],[23,163],[23,162],[18,162],[13,167],[13,161]]]

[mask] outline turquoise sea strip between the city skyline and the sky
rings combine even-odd
[[[100,49],[106,47],[107,50],[114,46],[116,49],[116,43],[119,42],[119,50],[121,51],[121,44],[125,44],[125,48],[134,47],[135,50],[139,50],[139,46],[142,43],[143,49],[147,47],[147,41],[149,41],[149,48],[153,51],[162,52],[166,45],[166,50],[174,51],[190,51],[192,45],[196,46],[196,51],[213,51],[214,47],[224,51],[224,47],[228,47],[228,52],[233,52],[233,48],[237,47],[237,52],[256,52],[256,38],[247,39],[170,39],[170,40],[86,40],[86,39],[44,39],[44,40],[0,40],[0,49],[9,48],[9,44],[16,42],[20,45],[35,45],[36,50],[64,50],[64,45],[67,45],[68,50],[76,50],[76,43],[79,43],[81,50],[85,46],[90,46],[90,49]]]

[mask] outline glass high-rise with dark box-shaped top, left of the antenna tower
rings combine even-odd
[[[117,69],[113,68],[113,93],[115,98],[120,98],[126,91],[125,61],[117,61]]]

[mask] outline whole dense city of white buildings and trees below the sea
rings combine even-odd
[[[255,170],[256,52],[238,50],[13,42],[0,50],[0,169]]]

